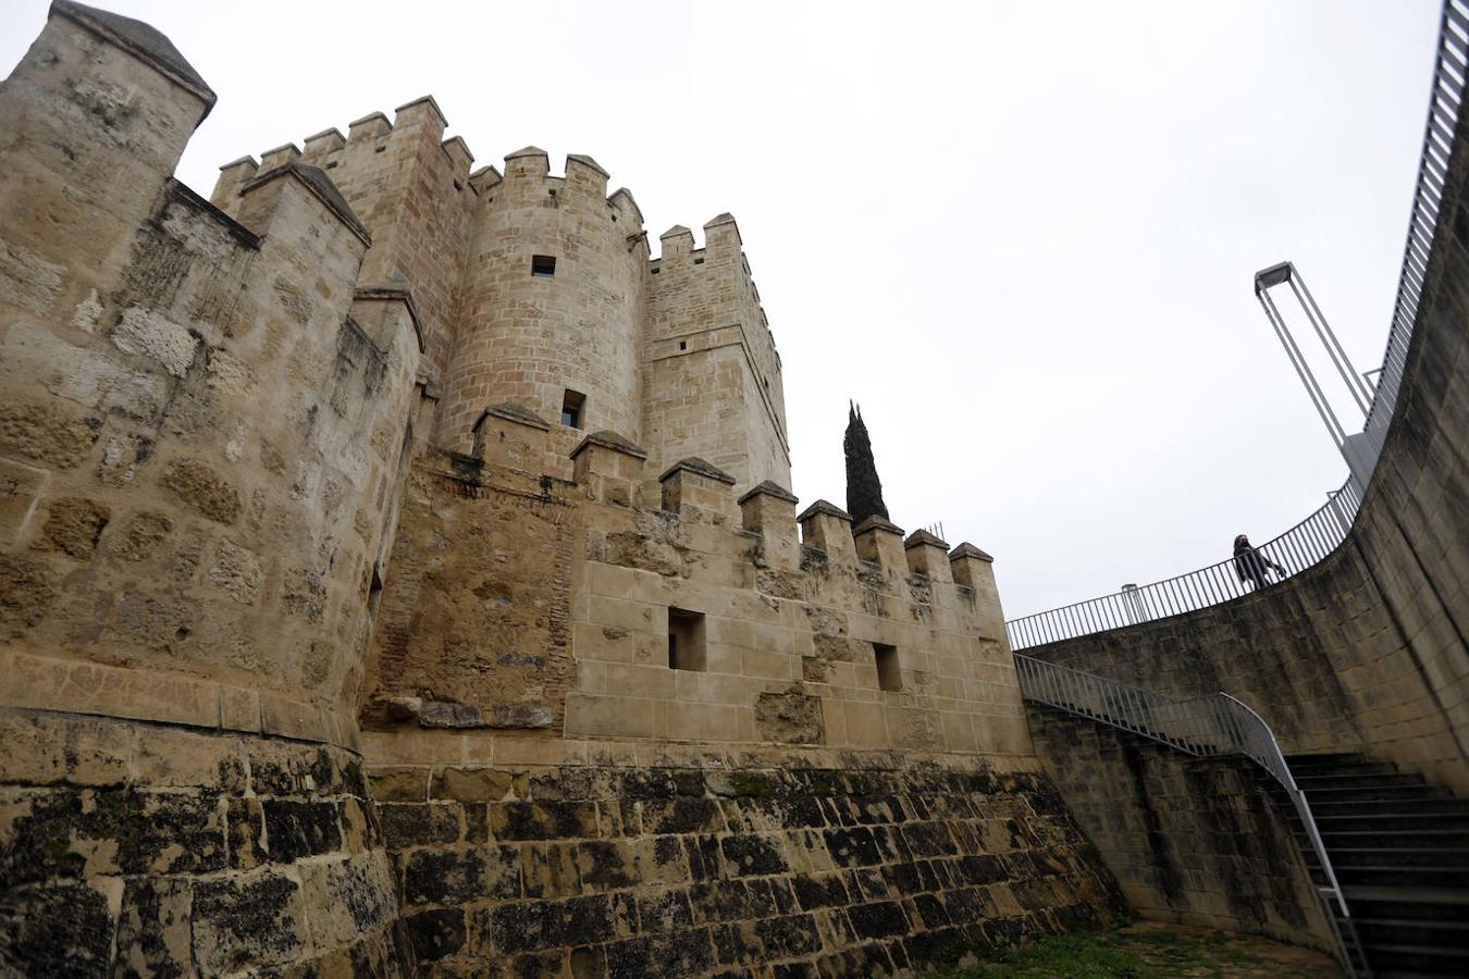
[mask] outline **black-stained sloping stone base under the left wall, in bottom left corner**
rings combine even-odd
[[[354,759],[0,713],[0,975],[413,975]]]

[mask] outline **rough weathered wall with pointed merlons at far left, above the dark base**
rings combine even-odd
[[[350,743],[417,336],[351,317],[367,242],[320,172],[259,178],[245,225],[163,178],[103,211],[126,194],[98,170],[162,154],[148,88],[178,85],[81,21],[0,90],[0,208],[32,216],[4,250],[50,276],[0,291],[0,702]],[[98,213],[57,233],[87,188]]]

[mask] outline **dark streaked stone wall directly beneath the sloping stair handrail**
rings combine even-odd
[[[1332,950],[1293,823],[1252,762],[1028,713],[1046,774],[1138,914]]]

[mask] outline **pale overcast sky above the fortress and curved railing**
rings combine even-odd
[[[654,242],[732,211],[802,505],[843,503],[858,399],[893,520],[993,553],[1012,618],[1222,559],[1341,484],[1250,282],[1294,260],[1379,365],[1438,21],[1434,0],[101,6],[219,92],[179,169],[203,194],[220,163],[432,92],[476,166],[596,157]],[[0,70],[46,9],[0,0]]]

